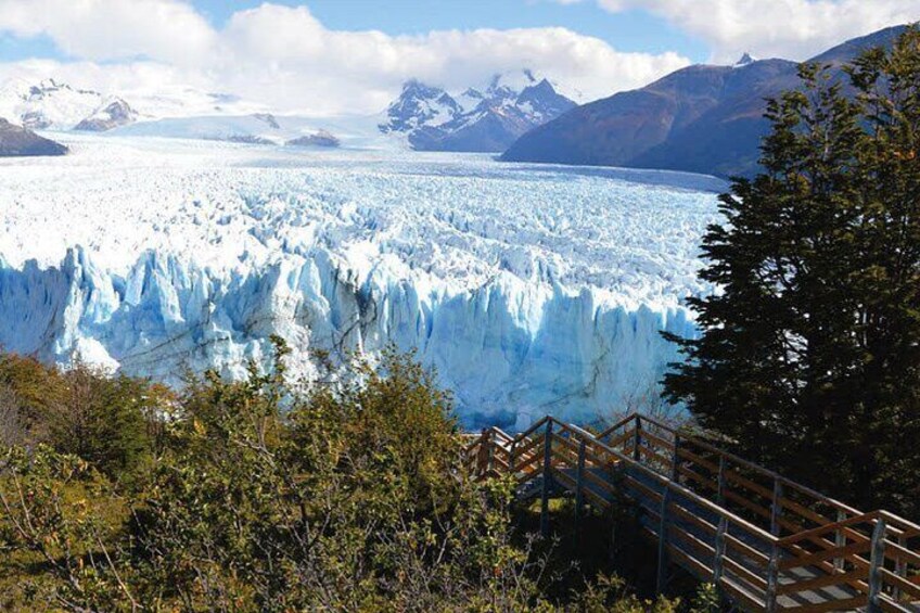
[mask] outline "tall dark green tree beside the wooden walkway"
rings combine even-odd
[[[768,104],[764,173],[720,196],[665,378],[748,457],[865,508],[920,512],[920,33]],[[912,467],[912,468],[911,468]]]

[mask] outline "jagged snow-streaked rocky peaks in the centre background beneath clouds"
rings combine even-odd
[[[499,75],[458,95],[410,80],[386,110],[383,133],[405,136],[420,151],[504,151],[521,135],[575,103],[529,71]]]

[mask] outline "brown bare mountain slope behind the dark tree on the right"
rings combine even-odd
[[[891,46],[904,28],[847,41],[814,61],[848,62],[865,49]],[[524,135],[502,159],[751,175],[769,128],[765,99],[797,87],[796,71],[787,60],[689,66],[578,106]]]

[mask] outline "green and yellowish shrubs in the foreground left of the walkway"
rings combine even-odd
[[[8,358],[0,372],[50,444],[14,445],[0,464],[0,606],[677,606],[641,601],[606,575],[559,598],[567,589],[551,586],[551,551],[514,529],[514,484],[470,478],[450,398],[411,356],[356,359],[304,393],[285,381],[286,353],[276,340],[268,373],[205,373],[177,397]],[[53,383],[48,395],[36,380]]]

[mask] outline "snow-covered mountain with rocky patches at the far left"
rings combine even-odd
[[[0,117],[33,130],[101,131],[132,123],[137,113],[120,98],[55,79],[12,79],[0,88]]]

